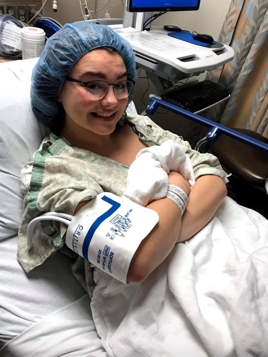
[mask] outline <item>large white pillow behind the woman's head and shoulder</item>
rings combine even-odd
[[[0,64],[0,239],[18,232],[23,214],[20,171],[46,135],[31,110],[31,72],[36,61]]]

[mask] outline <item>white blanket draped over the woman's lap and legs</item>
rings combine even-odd
[[[268,221],[229,197],[144,282],[94,278],[110,357],[268,356]]]

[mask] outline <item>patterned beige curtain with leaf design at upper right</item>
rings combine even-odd
[[[206,79],[228,88],[231,96],[207,118],[268,138],[268,0],[232,0],[218,41],[235,56]]]

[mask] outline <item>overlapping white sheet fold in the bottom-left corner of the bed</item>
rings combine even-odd
[[[108,357],[88,295],[40,320],[0,350],[1,357]]]

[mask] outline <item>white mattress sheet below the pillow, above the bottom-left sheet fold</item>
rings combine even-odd
[[[86,294],[60,252],[26,274],[16,258],[17,239],[0,241],[0,347]]]

